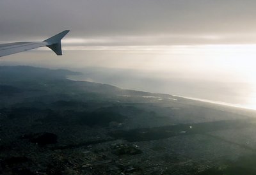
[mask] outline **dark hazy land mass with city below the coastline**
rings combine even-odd
[[[0,174],[255,174],[256,112],[0,66]]]

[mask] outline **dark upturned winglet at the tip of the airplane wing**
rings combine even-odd
[[[47,47],[52,49],[57,56],[62,55],[62,50],[61,50],[61,39],[69,32],[69,30],[63,31],[59,34],[56,34],[52,36],[51,38],[48,38],[47,40],[44,40],[44,42],[47,42]]]

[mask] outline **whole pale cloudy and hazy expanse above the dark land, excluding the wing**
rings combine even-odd
[[[256,1],[1,0],[0,43],[42,41],[63,30],[63,56],[49,49],[0,65],[68,68],[83,80],[256,109]]]

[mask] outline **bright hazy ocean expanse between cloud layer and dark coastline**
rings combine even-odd
[[[186,96],[256,109],[256,45],[176,45],[150,47],[65,47],[51,58],[41,50],[1,60],[1,65],[67,68],[70,77],[120,88]],[[39,51],[40,52],[40,51]],[[33,58],[26,57],[31,54]],[[74,56],[76,54],[76,56]]]

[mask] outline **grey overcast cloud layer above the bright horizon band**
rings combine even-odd
[[[1,0],[0,41],[42,40],[70,29],[68,38],[92,41],[86,45],[255,43],[255,6],[250,0]]]

